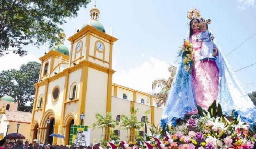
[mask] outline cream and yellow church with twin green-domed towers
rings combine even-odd
[[[35,84],[36,93],[31,118],[30,141],[66,145],[69,142],[70,125],[80,125],[80,115],[85,119],[82,125],[92,125],[95,114],[111,112],[113,118],[130,109],[139,109],[140,120],[144,112],[150,110],[149,121],[158,124],[163,108],[143,93],[112,83],[113,44],[117,38],[105,33],[98,22],[100,11],[94,7],[91,19],[76,34],[68,38],[71,49],[57,43],[40,58],[42,62],[39,81]],[[65,34],[59,35],[61,39]],[[47,123],[48,120],[48,123]],[[126,130],[118,130],[120,140],[126,140]],[[147,127],[149,132],[149,127]],[[145,131],[142,128],[141,131]],[[59,133],[66,139],[49,137]],[[129,134],[128,134],[129,135]],[[91,131],[91,140],[101,140],[101,130]]]

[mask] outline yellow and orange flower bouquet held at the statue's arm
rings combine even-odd
[[[187,72],[191,72],[194,64],[194,50],[192,49],[192,44],[188,40],[184,39],[184,43],[181,47],[181,54],[182,57],[184,58],[183,64],[185,70]]]

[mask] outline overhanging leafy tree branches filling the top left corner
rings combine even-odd
[[[13,52],[23,56],[23,45],[59,41],[56,34],[66,17],[76,17],[80,7],[91,0],[1,0],[0,1],[0,56]]]

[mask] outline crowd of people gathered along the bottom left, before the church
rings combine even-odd
[[[7,142],[6,139],[0,140],[0,149],[100,149],[100,147],[91,146],[75,146],[69,145],[50,145],[43,144],[42,142],[34,142],[33,144],[29,141],[23,142],[22,139],[18,139],[16,142]]]

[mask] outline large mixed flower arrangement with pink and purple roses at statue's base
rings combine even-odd
[[[150,129],[150,141],[113,142],[112,149],[254,149],[255,132],[240,120],[240,116],[222,115],[221,106],[216,102],[207,111],[198,107],[199,114],[167,128]],[[157,133],[156,133],[157,132]],[[115,146],[113,146],[115,144]]]

